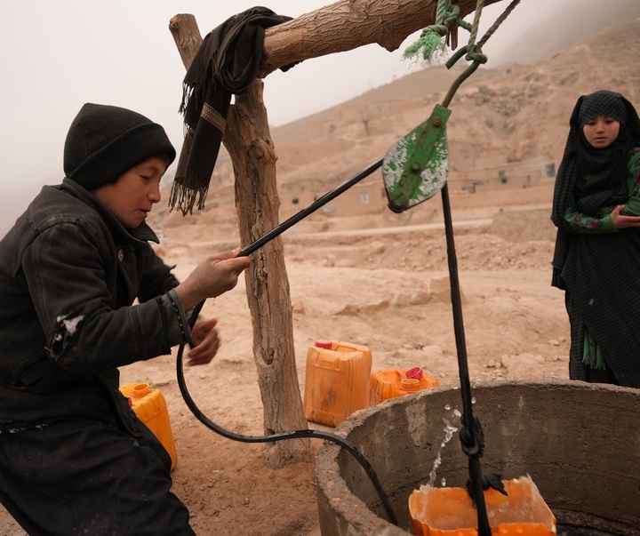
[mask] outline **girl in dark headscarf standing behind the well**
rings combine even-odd
[[[640,119],[616,92],[580,97],[558,169],[552,284],[565,291],[572,380],[640,388]]]

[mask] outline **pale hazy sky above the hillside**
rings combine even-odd
[[[548,17],[558,2],[522,0],[486,45],[488,66],[492,66],[492,51],[504,49],[522,28]],[[297,17],[331,3],[5,0],[0,32],[0,236],[43,184],[62,179],[68,125],[85,102],[122,106],[148,116],[163,124],[180,151],[182,118],[178,107],[185,71],[168,29],[173,15],[195,15],[204,36],[229,16],[254,5]],[[484,29],[508,3],[505,0],[484,9]],[[424,67],[401,58],[419,33],[408,37],[396,52],[368,45],[269,75],[264,90],[269,122],[272,126],[289,123]],[[460,30],[460,43],[467,38],[468,33]]]

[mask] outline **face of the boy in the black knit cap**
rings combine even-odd
[[[160,196],[160,180],[166,171],[164,159],[152,156],[125,172],[116,182],[92,190],[124,228],[137,228]]]

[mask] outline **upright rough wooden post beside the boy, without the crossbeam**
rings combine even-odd
[[[169,28],[185,68],[202,37],[192,15],[176,15]],[[223,143],[236,174],[236,212],[240,239],[251,244],[278,224],[276,153],[262,100],[262,81],[255,80],[228,114]],[[304,415],[293,347],[292,305],[278,236],[252,254],[244,273],[252,313],[253,359],[264,401],[264,432],[275,434],[308,428]],[[311,460],[309,440],[288,439],[265,444],[269,466],[278,468]]]

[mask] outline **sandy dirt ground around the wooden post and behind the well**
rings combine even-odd
[[[549,284],[553,242],[530,240],[523,232],[517,241],[500,237],[509,216],[495,212],[491,219],[455,222],[472,383],[567,378],[563,293]],[[542,225],[543,212],[514,211],[510,218],[533,229]],[[368,346],[374,371],[420,366],[441,385],[459,382],[442,222],[287,233],[284,251],[301,394],[307,351],[316,339]],[[184,276],[207,253],[228,245],[170,236],[158,252]],[[244,278],[233,291],[207,302],[204,313],[220,320],[222,346],[212,364],[186,370],[189,391],[221,427],[260,436],[262,404]],[[313,462],[271,469],[262,455],[264,445],[232,441],[205,428],[180,396],[175,355],[124,367],[122,381],[149,382],[166,398],[178,451],[174,491],[188,505],[196,533],[320,533]],[[317,452],[321,442],[311,441]],[[0,533],[23,532],[2,512]]]

